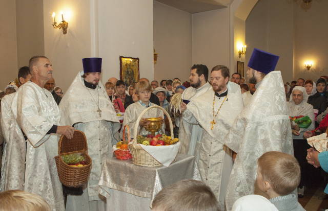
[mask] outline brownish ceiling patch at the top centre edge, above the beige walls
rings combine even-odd
[[[189,12],[206,12],[226,8],[233,0],[156,0],[162,4]]]

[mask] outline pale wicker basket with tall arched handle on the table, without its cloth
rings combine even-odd
[[[144,115],[149,109],[152,108],[158,108],[160,110],[162,110],[165,115],[167,115],[167,118],[169,119],[170,122],[170,131],[171,131],[171,135],[173,135],[173,124],[172,124],[172,120],[170,118],[169,113],[163,109],[162,107],[159,107],[157,105],[154,106],[150,106],[148,108],[146,108],[144,111],[142,111],[135,123],[135,125],[139,125],[139,122],[142,118],[142,115]],[[137,134],[138,134],[138,127],[134,127],[134,132],[133,132],[133,144],[129,145],[129,149],[131,151],[132,154],[132,161],[135,165],[138,166],[143,166],[143,167],[158,167],[158,166],[162,166],[162,164],[160,162],[158,162],[155,158],[153,158],[147,151],[144,150],[144,148],[142,148],[141,146],[139,146],[137,144]]]

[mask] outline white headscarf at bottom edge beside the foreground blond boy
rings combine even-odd
[[[232,211],[278,211],[273,203],[260,195],[240,197],[232,206]]]

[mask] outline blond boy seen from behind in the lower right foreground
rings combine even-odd
[[[293,194],[299,182],[300,167],[292,155],[272,151],[258,158],[256,184],[279,211],[305,210]]]

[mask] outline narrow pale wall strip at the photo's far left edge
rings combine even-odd
[[[2,1],[0,7],[0,90],[17,78],[15,1]]]

